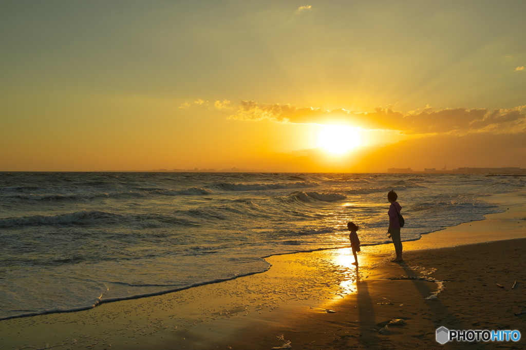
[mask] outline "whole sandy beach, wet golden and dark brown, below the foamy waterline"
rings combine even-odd
[[[526,349],[526,196],[486,200],[503,212],[405,242],[403,263],[391,245],[363,247],[359,269],[346,248],[271,256],[265,273],[0,321],[0,349]],[[522,339],[440,345],[440,326]]]

